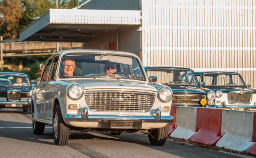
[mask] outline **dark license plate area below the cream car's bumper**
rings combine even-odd
[[[141,120],[102,120],[102,128],[141,129]]]

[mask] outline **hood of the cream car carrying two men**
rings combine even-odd
[[[84,90],[89,89],[131,89],[131,90],[148,90],[156,92],[158,87],[163,85],[150,84],[134,80],[102,80],[102,79],[77,79],[66,81],[78,83],[83,86]]]

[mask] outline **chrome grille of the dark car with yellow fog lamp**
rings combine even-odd
[[[184,95],[173,94],[173,104],[193,104],[200,105],[201,99],[205,99],[203,95]]]

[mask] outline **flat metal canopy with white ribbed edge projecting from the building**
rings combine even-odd
[[[50,9],[19,33],[20,41],[83,42],[101,32],[140,25],[141,11]]]

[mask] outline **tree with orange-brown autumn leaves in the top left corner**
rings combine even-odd
[[[0,29],[5,38],[14,39],[19,34],[19,20],[23,6],[19,0],[3,0],[0,6]]]

